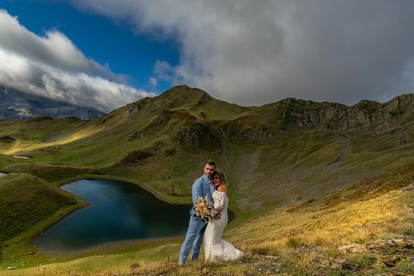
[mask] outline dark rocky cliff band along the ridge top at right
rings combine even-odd
[[[250,108],[233,119],[216,120],[213,126],[223,139],[238,137],[255,143],[266,143],[292,130],[344,137],[393,134],[414,126],[414,94],[386,103],[362,100],[354,106],[284,99]]]

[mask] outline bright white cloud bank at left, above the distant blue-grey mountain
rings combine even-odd
[[[64,34],[39,37],[0,10],[0,85],[103,112],[154,96],[87,59]]]

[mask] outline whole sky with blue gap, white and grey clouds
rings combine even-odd
[[[110,112],[187,84],[260,106],[414,92],[411,0],[0,0],[0,85]]]

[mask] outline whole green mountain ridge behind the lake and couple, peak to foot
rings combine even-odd
[[[14,139],[0,140],[0,150],[136,179],[169,199],[188,196],[199,164],[212,158],[234,183],[235,206],[258,211],[410,164],[413,109],[414,95],[354,106],[289,98],[243,107],[176,86],[90,121],[0,121],[0,137]],[[65,177],[13,163],[2,169]]]

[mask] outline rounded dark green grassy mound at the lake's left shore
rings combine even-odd
[[[36,248],[30,240],[44,228],[86,202],[48,182],[12,173],[0,177],[0,261],[11,264]],[[24,261],[23,261],[24,262]]]

